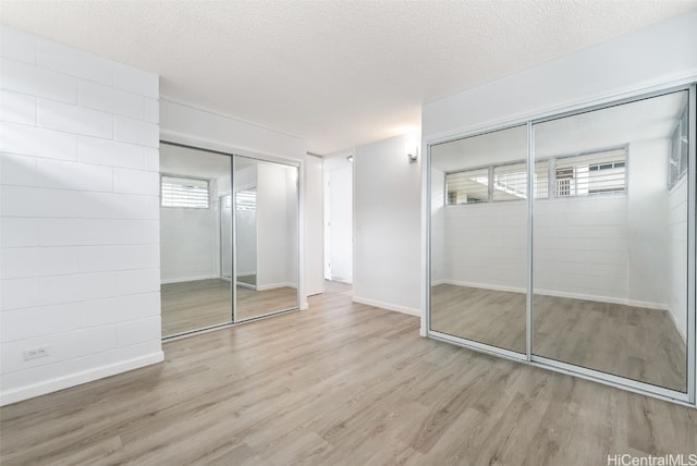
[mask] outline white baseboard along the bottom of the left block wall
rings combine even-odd
[[[45,395],[47,393],[57,392],[59,390],[69,389],[71,387],[81,385],[83,383],[103,379],[105,377],[115,376],[129,370],[161,363],[162,360],[164,360],[164,353],[159,351],[145,356],[111,364],[109,366],[97,367],[56,379],[50,379],[45,382],[8,390],[0,394],[0,406],[33,398],[35,396]]]

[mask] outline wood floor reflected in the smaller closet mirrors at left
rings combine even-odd
[[[173,335],[231,320],[230,282],[221,279],[168,283],[162,293],[162,335]],[[256,291],[237,286],[237,320],[297,307],[291,287]]]

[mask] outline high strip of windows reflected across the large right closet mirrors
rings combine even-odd
[[[445,174],[447,204],[527,199],[526,162]],[[589,196],[626,191],[626,149],[603,150],[535,162],[536,199]]]

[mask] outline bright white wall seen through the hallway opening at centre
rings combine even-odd
[[[326,260],[329,280],[353,282],[353,163],[346,155],[325,159],[325,203],[329,233]]]

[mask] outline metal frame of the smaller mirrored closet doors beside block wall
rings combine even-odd
[[[222,323],[216,323],[212,326],[206,326],[206,327],[201,327],[198,329],[193,329],[193,330],[187,330],[184,332],[180,332],[180,333],[175,333],[172,335],[167,335],[162,338],[162,341],[173,341],[173,340],[179,340],[179,339],[183,339],[186,336],[192,336],[192,335],[197,335],[197,334],[201,334],[201,333],[207,333],[207,332],[211,332],[215,330],[220,330],[220,329],[224,329],[224,328],[230,328],[230,327],[235,327],[235,326],[241,326],[244,323],[249,323],[256,320],[261,320],[261,319],[268,319],[270,317],[274,317],[274,316],[279,316],[279,315],[283,315],[283,314],[288,314],[288,312],[295,312],[302,309],[301,307],[301,162],[299,161],[295,161],[295,160],[290,160],[290,159],[283,159],[280,157],[273,157],[273,156],[266,156],[266,155],[261,155],[261,154],[255,154],[254,156],[252,155],[237,155],[234,152],[228,152],[228,151],[223,151],[223,150],[216,150],[216,149],[209,149],[203,146],[195,146],[193,144],[184,144],[184,143],[176,143],[173,140],[167,140],[167,139],[160,139],[160,144],[167,144],[170,146],[175,146],[175,147],[182,147],[185,149],[192,149],[192,150],[199,150],[199,151],[204,151],[204,152],[209,152],[209,154],[217,154],[220,156],[225,156],[230,158],[230,200],[231,200],[231,232],[232,232],[232,245],[231,245],[231,261],[232,261],[232,267],[231,267],[231,277],[230,277],[230,297],[231,297],[231,312],[230,312],[230,318],[231,320],[228,322],[222,322]],[[237,265],[236,265],[236,247],[235,247],[235,242],[236,242],[236,222],[235,222],[235,196],[234,196],[234,188],[235,188],[235,158],[240,157],[240,158],[245,158],[245,159],[249,159],[249,160],[254,160],[254,161],[260,161],[260,162],[270,162],[270,163],[277,163],[280,165],[284,165],[284,167],[290,167],[295,169],[295,173],[296,173],[296,177],[295,177],[295,228],[296,228],[296,232],[297,232],[297,242],[295,245],[295,261],[296,261],[296,267],[295,267],[295,273],[296,273],[296,293],[295,293],[295,307],[292,308],[288,308],[288,309],[281,309],[281,310],[274,310],[271,312],[267,312],[267,314],[262,314],[259,316],[255,316],[255,317],[250,317],[248,319],[244,319],[244,320],[237,320],[237,306],[236,306],[236,273],[237,273]],[[220,214],[219,214],[220,216]],[[220,231],[222,231],[222,226],[220,229]],[[222,236],[221,236],[222,237]],[[222,252],[220,253],[220,256],[222,257]],[[221,268],[222,268],[222,262],[221,262]]]

